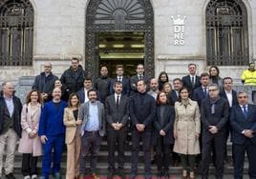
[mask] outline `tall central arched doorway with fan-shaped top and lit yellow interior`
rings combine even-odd
[[[150,0],[91,0],[86,11],[85,69],[122,64],[131,73],[143,63],[154,76],[154,12]],[[113,70],[111,70],[113,71]]]

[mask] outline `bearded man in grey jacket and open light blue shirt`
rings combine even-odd
[[[80,178],[86,174],[86,157],[91,157],[91,174],[93,179],[99,179],[96,175],[96,158],[100,149],[101,139],[105,134],[105,110],[102,103],[96,100],[96,89],[88,90],[89,101],[82,104],[78,118],[83,120],[81,126],[81,158]]]

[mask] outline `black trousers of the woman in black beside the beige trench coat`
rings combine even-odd
[[[159,171],[162,170],[162,168],[165,171],[169,170],[169,165],[171,161],[170,151],[171,151],[171,145],[164,144],[163,137],[159,137],[157,139],[157,145],[156,145],[157,165],[158,165]]]

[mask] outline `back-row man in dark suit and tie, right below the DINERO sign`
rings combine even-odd
[[[182,77],[183,86],[190,89],[191,94],[194,89],[197,89],[201,86],[200,77],[196,74],[197,65],[196,64],[188,64],[189,74],[187,76]]]

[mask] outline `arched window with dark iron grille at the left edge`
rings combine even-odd
[[[32,66],[33,9],[29,0],[0,2],[0,66]]]

